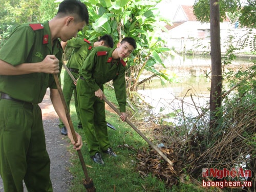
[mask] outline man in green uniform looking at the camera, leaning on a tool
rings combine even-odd
[[[77,80],[77,98],[80,117],[86,135],[92,160],[104,164],[100,152],[116,156],[110,147],[105,120],[103,84],[113,80],[116,99],[119,104],[122,121],[126,119],[126,82],[123,58],[128,57],[136,42],[132,37],[125,37],[116,49],[96,47],[79,70]]]

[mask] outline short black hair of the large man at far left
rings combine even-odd
[[[64,0],[59,4],[59,9],[57,14],[73,14],[78,17],[77,22],[85,21],[86,24],[89,24],[89,13],[86,5],[84,5],[79,0]]]

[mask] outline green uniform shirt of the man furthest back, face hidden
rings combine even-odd
[[[80,69],[88,53],[93,48],[93,45],[87,39],[72,38],[68,41],[67,47],[74,48],[71,57],[67,63],[68,68]]]

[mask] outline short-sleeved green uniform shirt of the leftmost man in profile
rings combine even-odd
[[[40,62],[47,55],[55,55],[62,67],[63,50],[60,41],[51,43],[51,32],[48,22],[41,24],[23,24],[10,35],[0,49],[0,59],[13,66],[21,63]],[[36,63],[35,63],[36,65]],[[31,73],[25,75],[0,75],[0,92],[11,97],[31,103],[40,103],[47,88],[57,89],[53,75]]]

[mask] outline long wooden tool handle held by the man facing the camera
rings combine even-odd
[[[118,114],[118,115],[122,115],[120,112],[119,112],[119,110],[110,102],[110,101],[108,101],[105,97],[103,97],[103,100],[106,102],[106,103],[108,103],[108,105],[110,105],[110,107]],[[126,120],[125,120],[148,144],[150,144],[150,146],[152,147],[152,148],[154,148],[154,150],[156,150],[157,151],[157,153],[165,160],[165,161],[167,161],[171,166],[173,166],[174,164],[173,164],[173,162],[172,161],[170,161],[160,150],[159,150],[159,148],[157,148],[157,146],[156,145],[154,145],[150,140],[148,140],[147,138],[146,138],[146,136],[145,135],[143,135],[143,133],[141,133],[140,132],[140,130],[138,130],[138,128],[129,120],[129,119],[127,119],[126,118]]]

